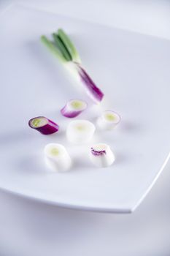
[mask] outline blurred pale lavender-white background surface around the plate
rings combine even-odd
[[[20,1],[170,39],[170,1]],[[0,10],[15,1],[0,1]],[[170,162],[134,214],[94,214],[0,192],[0,256],[170,255]]]

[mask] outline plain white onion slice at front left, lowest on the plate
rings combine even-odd
[[[50,143],[45,146],[45,162],[51,170],[63,172],[69,170],[72,159],[61,144]]]

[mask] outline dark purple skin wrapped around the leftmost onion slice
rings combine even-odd
[[[46,118],[45,116],[37,116],[36,118]],[[32,129],[36,129],[36,131],[41,132],[43,135],[51,135],[55,132],[58,132],[58,124],[55,124],[55,122],[51,121],[50,119],[46,118],[48,123],[45,124],[43,127],[32,127],[31,121],[34,120],[34,118],[31,118],[28,122],[29,127]]]

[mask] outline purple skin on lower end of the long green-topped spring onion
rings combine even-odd
[[[83,69],[80,64],[76,63],[78,67],[79,75],[82,79],[82,82],[85,84],[86,88],[90,92],[93,99],[95,99],[96,102],[101,102],[101,100],[104,97],[104,93],[96,86],[96,84],[93,82],[93,80],[90,78],[87,72],[85,72],[85,69]]]

